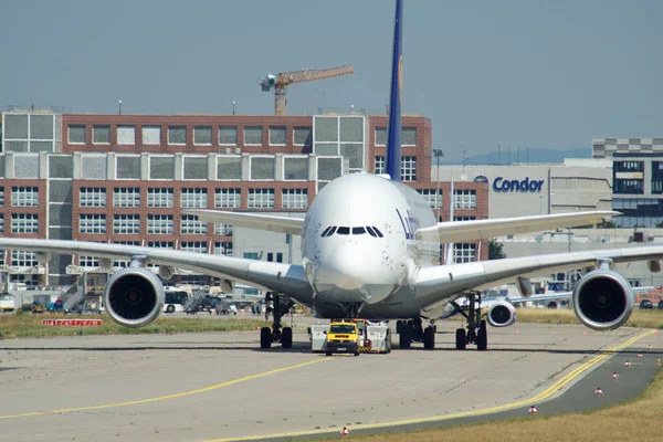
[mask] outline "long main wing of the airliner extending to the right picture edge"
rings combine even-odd
[[[661,259],[663,259],[663,246],[660,245],[567,252],[418,267],[412,278],[419,304],[424,311],[430,311],[469,291],[482,292],[514,282],[517,276],[527,278],[567,270],[593,267],[601,260],[625,263]]]

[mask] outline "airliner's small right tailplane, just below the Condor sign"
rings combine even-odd
[[[535,217],[499,218],[493,220],[450,221],[440,222],[430,228],[418,229],[414,234],[420,240],[445,244],[450,242],[488,240],[505,234],[519,234],[550,229],[596,224],[601,222],[604,218],[619,214],[621,213],[606,210]]]

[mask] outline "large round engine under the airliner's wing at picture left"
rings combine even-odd
[[[115,272],[104,287],[104,306],[115,323],[130,328],[144,327],[164,309],[164,285],[150,271],[126,267]]]

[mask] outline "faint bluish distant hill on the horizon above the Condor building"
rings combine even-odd
[[[474,157],[465,158],[465,165],[517,165],[518,162],[522,165],[526,164],[546,164],[546,162],[564,162],[565,158],[591,158],[591,148],[581,147],[577,149],[567,149],[567,150],[558,150],[558,149],[529,149],[529,155],[527,154],[527,149],[520,149],[520,155],[518,156],[517,149],[512,148],[511,155],[507,149],[502,149],[502,152],[497,150],[476,155]],[[511,161],[509,161],[511,159]],[[518,161],[519,159],[519,161]],[[435,164],[435,159],[433,158],[433,165]],[[453,160],[453,161],[440,161],[440,166],[442,165],[461,165],[462,160]]]

